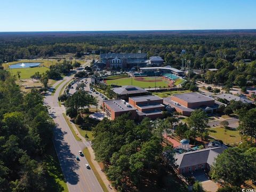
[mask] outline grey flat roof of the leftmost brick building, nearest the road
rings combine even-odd
[[[106,103],[115,112],[136,110],[123,99],[106,100],[103,102]]]

